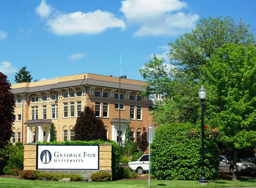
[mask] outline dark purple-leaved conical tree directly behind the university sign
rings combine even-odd
[[[96,117],[93,107],[85,106],[84,111],[76,119],[74,127],[75,140],[98,140],[107,141],[106,129],[102,118]]]

